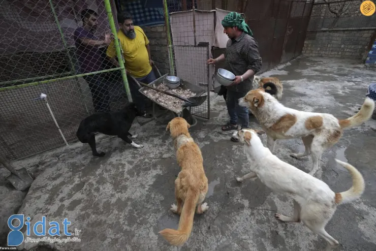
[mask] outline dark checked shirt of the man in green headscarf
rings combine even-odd
[[[261,70],[262,58],[257,42],[244,32],[237,39],[229,39],[225,58],[225,69],[234,73],[235,76],[243,75],[249,69],[252,69],[255,74]],[[254,76],[249,77],[237,85],[227,86],[227,89],[235,92],[248,92],[252,89],[253,79]]]

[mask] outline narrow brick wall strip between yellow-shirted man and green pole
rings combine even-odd
[[[166,26],[143,26],[142,29],[150,41],[151,59],[162,75],[169,73]]]

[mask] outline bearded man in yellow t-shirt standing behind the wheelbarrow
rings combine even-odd
[[[132,16],[129,13],[118,13],[117,21],[120,27],[117,37],[125,60],[127,74],[140,82],[151,83],[156,78],[151,68],[154,62],[151,60],[149,40],[140,26],[134,26]],[[116,60],[114,41],[109,44],[106,54],[112,64],[120,67]],[[132,79],[128,80],[136,106],[145,112],[144,117],[151,117],[151,114],[146,114],[145,97],[138,91],[139,86]]]

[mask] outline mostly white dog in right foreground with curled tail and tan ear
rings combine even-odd
[[[327,250],[337,246],[338,241],[325,231],[325,226],[338,205],[356,200],[363,194],[365,185],[362,174],[352,165],[335,160],[349,170],[353,179],[353,185],[348,191],[335,193],[320,179],[278,159],[264,147],[258,134],[264,132],[250,129],[238,132],[251,172],[236,179],[242,182],[247,178],[259,178],[271,190],[291,196],[294,199],[293,216],[276,213],[275,217],[283,222],[302,221],[328,242]]]

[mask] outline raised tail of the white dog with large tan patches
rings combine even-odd
[[[364,123],[372,116],[373,109],[374,101],[367,97],[357,114],[347,119],[338,120],[340,127],[346,129]]]

